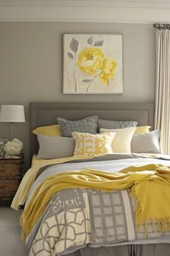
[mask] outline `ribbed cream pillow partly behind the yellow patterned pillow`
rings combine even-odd
[[[125,129],[99,129],[99,132],[115,132],[115,139],[112,141],[112,150],[114,153],[131,153],[131,140],[136,127]]]

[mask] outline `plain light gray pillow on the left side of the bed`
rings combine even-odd
[[[37,140],[39,142],[37,158],[53,159],[73,156],[75,148],[73,138],[37,135]]]

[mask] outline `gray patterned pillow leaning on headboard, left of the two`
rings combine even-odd
[[[57,118],[64,137],[71,137],[71,132],[88,132],[93,135],[97,134],[97,120],[98,116],[89,116],[77,121],[69,121],[61,117]]]

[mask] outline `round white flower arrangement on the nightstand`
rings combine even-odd
[[[14,139],[12,141],[9,141],[4,146],[4,151],[7,155],[19,155],[23,148],[22,141],[18,139]]]

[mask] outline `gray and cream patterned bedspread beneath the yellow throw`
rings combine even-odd
[[[27,203],[36,187],[48,176],[61,171],[98,168],[120,171],[134,164],[162,163],[169,161],[150,158],[125,158],[121,160],[63,163],[45,168],[30,189]],[[118,244],[169,243],[170,233],[157,233],[148,223],[135,229],[135,200],[128,190],[102,192],[96,189],[65,189],[57,192],[27,238],[30,256],[67,255],[88,247],[115,246]]]

